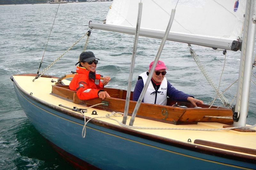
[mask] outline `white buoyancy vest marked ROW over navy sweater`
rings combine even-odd
[[[140,74],[140,77],[143,79],[143,84],[145,85],[148,75],[147,72]],[[166,105],[167,104],[167,80],[163,79],[161,85],[156,92],[152,82],[150,81],[148,85],[147,92],[143,98],[144,103],[158,104],[158,105]],[[156,101],[156,103],[155,103]]]

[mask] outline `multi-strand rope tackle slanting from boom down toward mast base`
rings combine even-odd
[[[222,103],[225,106],[230,106],[228,100],[224,97],[224,95],[218,90],[217,86],[215,85],[215,83],[212,81],[212,78],[210,78],[210,76],[208,75],[208,73],[206,72],[206,70],[204,69],[203,64],[201,63],[199,57],[196,55],[195,51],[191,48],[190,44],[188,45],[189,49],[190,49],[190,54],[193,56],[198,68],[201,70],[202,74],[204,75],[204,77],[206,78],[206,80],[209,82],[209,84],[212,86],[213,90],[218,94],[218,96],[220,97],[220,100],[222,101]]]

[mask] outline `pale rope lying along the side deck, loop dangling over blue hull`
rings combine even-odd
[[[104,103],[99,103],[96,105],[100,105],[100,104],[104,104]],[[93,105],[93,106],[96,106]],[[91,106],[91,107],[93,107]],[[91,107],[87,107],[87,108],[91,108]],[[105,119],[110,119],[110,120],[114,120],[116,121],[120,126],[124,127],[124,128],[130,128],[130,129],[161,129],[161,130],[199,130],[199,131],[216,131],[216,130],[230,130],[230,129],[239,129],[239,128],[244,128],[244,129],[251,129],[256,127],[256,124],[253,126],[237,126],[237,127],[229,127],[229,128],[209,128],[209,129],[202,129],[202,128],[155,128],[155,127],[140,127],[140,126],[130,126],[130,125],[125,125],[122,122],[114,119],[114,118],[110,118],[111,116],[115,116],[115,117],[122,117],[122,115],[124,115],[124,113],[121,112],[112,112],[111,114],[107,114],[106,116],[99,116],[99,117],[92,117],[90,118],[87,122],[86,122],[86,115],[82,112],[81,113],[84,115],[84,127],[82,130],[82,137],[84,138],[86,135],[86,125],[88,122],[90,122],[92,119],[98,119],[98,118],[105,118]],[[120,114],[121,116],[117,116],[117,114]],[[205,116],[206,117],[206,116]],[[217,117],[217,116],[216,116]],[[222,116],[222,117],[228,117],[228,116]]]

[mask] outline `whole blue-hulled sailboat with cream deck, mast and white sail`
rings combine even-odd
[[[80,100],[70,75],[17,74],[15,92],[35,128],[77,169],[256,169],[256,128],[246,125],[255,9],[253,0],[114,0],[104,23],[89,27],[135,34],[127,91],[104,88],[111,98]],[[162,39],[153,69],[166,40],[241,50],[236,106],[147,104],[143,92],[131,101],[138,36]]]

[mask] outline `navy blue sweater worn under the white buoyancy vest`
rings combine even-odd
[[[151,79],[151,82],[153,84],[153,87],[157,91],[160,87],[160,85],[156,85],[154,81]],[[142,92],[142,89],[144,87],[143,79],[139,76],[138,81],[135,85],[135,89],[133,92],[133,101],[138,101],[140,97],[140,93]],[[154,94],[155,95],[155,94]],[[187,101],[188,97],[193,97],[190,96],[189,94],[186,94],[184,92],[181,92],[177,89],[175,89],[169,81],[167,81],[167,96],[171,98],[172,100],[177,100],[177,101]],[[193,97],[194,98],[194,97]],[[143,102],[143,100],[142,100]]]

